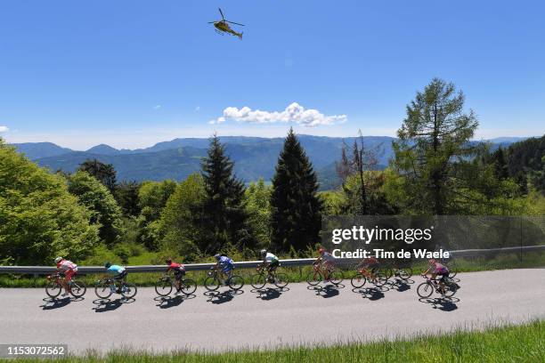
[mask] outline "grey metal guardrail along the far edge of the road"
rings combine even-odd
[[[476,255],[494,254],[494,253],[524,253],[533,251],[545,251],[544,246],[517,246],[517,247],[502,247],[502,248],[489,248],[489,249],[466,249],[450,251],[452,257],[471,257]],[[340,264],[346,264],[354,262],[354,259],[337,259]],[[281,266],[283,267],[302,267],[308,266],[315,261],[314,258],[301,258],[292,260],[281,260]],[[238,269],[252,269],[262,261],[245,261],[235,262],[235,268]],[[185,264],[185,270],[187,271],[203,271],[209,270],[215,266],[216,263],[188,263]],[[126,266],[126,270],[130,272],[161,272],[165,271],[165,265],[141,265],[141,266]],[[47,275],[51,274],[56,269],[53,266],[0,266],[0,273],[20,273],[29,275]],[[78,266],[77,271],[81,275],[104,273],[103,266]]]

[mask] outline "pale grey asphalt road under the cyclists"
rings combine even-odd
[[[459,274],[451,301],[419,299],[419,276],[405,286],[315,291],[305,283],[268,294],[244,286],[239,294],[159,299],[140,288],[134,301],[85,299],[53,303],[43,289],[0,289],[0,343],[68,343],[69,351],[148,351],[269,348],[332,344],[480,328],[490,323],[545,319],[545,269]],[[130,278],[129,278],[130,279]],[[367,287],[367,286],[364,286]],[[220,289],[220,293],[226,288]]]

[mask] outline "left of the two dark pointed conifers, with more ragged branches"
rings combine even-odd
[[[228,243],[251,247],[248,215],[244,205],[244,184],[232,173],[233,163],[224,145],[214,135],[202,163],[206,200],[202,226],[207,235],[205,253],[216,253]]]

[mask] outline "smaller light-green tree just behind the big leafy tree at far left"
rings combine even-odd
[[[121,209],[116,199],[100,181],[81,170],[68,178],[69,192],[81,206],[91,211],[89,222],[101,225],[99,236],[108,245],[115,243],[123,233]]]

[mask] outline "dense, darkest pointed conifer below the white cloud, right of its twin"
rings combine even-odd
[[[293,129],[284,141],[273,177],[272,245],[276,251],[300,251],[319,241],[321,199],[318,181]]]

